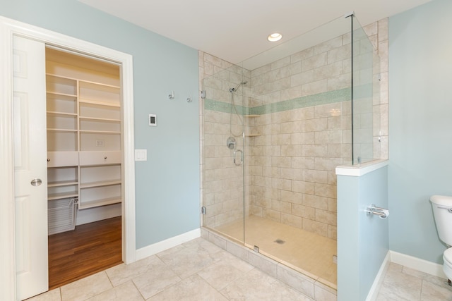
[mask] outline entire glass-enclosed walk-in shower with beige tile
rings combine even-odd
[[[335,167],[378,158],[379,58],[366,33],[341,17],[203,68],[203,227],[336,288]]]

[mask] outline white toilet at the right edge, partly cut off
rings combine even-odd
[[[450,284],[452,279],[452,197],[434,195],[430,197],[430,202],[432,202],[439,239],[448,245],[448,249],[443,254],[443,271]]]

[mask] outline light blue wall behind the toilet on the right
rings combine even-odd
[[[452,195],[452,1],[389,18],[389,246],[442,264],[432,195]]]

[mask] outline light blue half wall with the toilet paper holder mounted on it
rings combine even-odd
[[[388,167],[338,176],[338,301],[365,300],[388,253],[388,219],[367,215],[388,208]]]

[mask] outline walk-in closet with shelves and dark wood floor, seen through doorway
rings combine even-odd
[[[70,275],[82,278],[121,262],[120,66],[47,47],[46,90],[49,288],[54,288],[71,282]]]

